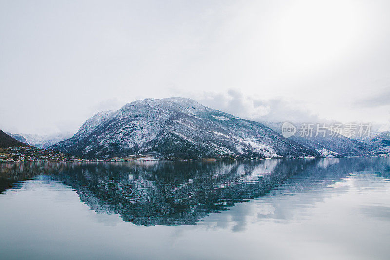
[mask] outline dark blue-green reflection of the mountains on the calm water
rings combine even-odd
[[[98,213],[119,214],[136,225],[194,225],[236,203],[273,196],[275,190],[285,195],[314,191],[321,197],[325,188],[367,170],[389,179],[388,158],[2,163],[0,194],[30,178],[49,178],[71,186]],[[305,204],[318,199],[309,198]]]

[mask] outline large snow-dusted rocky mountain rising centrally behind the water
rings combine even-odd
[[[98,113],[72,138],[50,148],[85,158],[320,156],[261,123],[177,97],[137,100],[115,113]]]

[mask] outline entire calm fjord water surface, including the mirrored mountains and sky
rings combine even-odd
[[[1,259],[388,259],[390,158],[2,163]]]

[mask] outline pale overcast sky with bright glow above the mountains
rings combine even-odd
[[[0,128],[75,132],[98,111],[170,96],[253,120],[389,124],[389,10],[388,0],[0,0]]]

